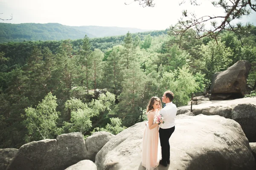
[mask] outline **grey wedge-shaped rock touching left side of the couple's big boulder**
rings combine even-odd
[[[94,162],[96,154],[113,136],[115,135],[109,132],[95,132],[87,137],[85,139],[86,158]]]

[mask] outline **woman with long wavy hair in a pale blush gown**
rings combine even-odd
[[[146,170],[154,170],[159,164],[160,150],[158,150],[159,125],[154,122],[154,116],[159,114],[162,108],[161,100],[152,97],[147,106],[148,126],[145,127],[142,142],[141,164]]]

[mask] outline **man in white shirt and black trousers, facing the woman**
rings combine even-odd
[[[163,94],[162,102],[166,104],[166,106],[160,111],[160,114],[163,116],[164,124],[160,124],[159,128],[159,137],[160,144],[162,147],[162,160],[160,160],[159,164],[167,167],[167,164],[170,164],[170,144],[169,138],[175,130],[174,122],[177,113],[177,107],[172,103],[174,99],[174,95],[172,91],[166,91]]]

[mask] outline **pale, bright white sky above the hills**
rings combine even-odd
[[[223,14],[210,0],[191,6],[189,0],[154,0],[154,7],[140,6],[133,0],[0,0],[1,23],[60,23],[66,26],[117,26],[148,30],[163,30],[175,25],[181,12],[197,16]],[[125,5],[130,3],[130,5]],[[243,17],[242,22],[256,25],[256,12]]]

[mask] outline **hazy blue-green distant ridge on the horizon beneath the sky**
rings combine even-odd
[[[86,34],[89,38],[110,37],[130,33],[145,32],[138,28],[104,27],[104,26],[64,26],[59,23],[0,23],[0,43],[46,40],[76,40]]]

